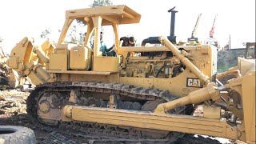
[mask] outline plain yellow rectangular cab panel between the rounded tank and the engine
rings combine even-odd
[[[118,62],[117,57],[94,57],[94,71],[118,72]]]

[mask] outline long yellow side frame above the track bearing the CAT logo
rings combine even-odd
[[[182,74],[175,78],[134,78],[134,77],[119,77],[118,73],[111,73],[110,75],[100,74],[59,74],[58,81],[60,82],[120,82],[130,84],[143,88],[154,88],[159,90],[169,90],[171,94],[179,97],[186,96],[194,90],[201,89],[196,86],[187,86],[187,78],[195,78],[194,74],[189,70],[185,70]],[[195,78],[197,79],[197,78]]]

